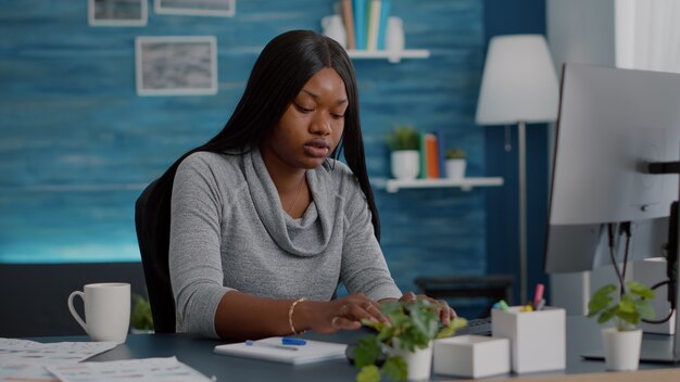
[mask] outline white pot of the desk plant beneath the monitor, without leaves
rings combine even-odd
[[[619,332],[616,328],[602,329],[604,359],[608,370],[638,370],[642,330]]]

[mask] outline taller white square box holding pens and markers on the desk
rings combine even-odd
[[[517,373],[566,368],[565,310],[545,307],[539,311],[491,310],[493,336],[511,340],[512,369]]]

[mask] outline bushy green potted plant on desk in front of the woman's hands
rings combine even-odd
[[[357,382],[380,381],[382,375],[394,381],[426,380],[432,366],[432,340],[453,335],[467,320],[456,317],[448,327],[439,328],[435,304],[390,302],[380,310],[390,323],[364,321],[377,331],[358,341],[354,348],[354,365],[361,369]],[[378,367],[381,355],[387,358]]]

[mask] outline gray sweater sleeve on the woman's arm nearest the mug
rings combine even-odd
[[[169,272],[178,331],[217,338],[215,311],[229,288],[221,260],[222,194],[201,156],[185,160],[172,198]]]

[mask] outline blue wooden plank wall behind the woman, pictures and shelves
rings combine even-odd
[[[238,0],[235,17],[158,15],[146,27],[90,27],[84,0],[0,0],[0,263],[129,262],[134,202],[178,155],[217,132],[262,47],[288,29],[320,31],[331,0]],[[355,60],[370,176],[389,176],[395,124],[442,129],[486,167],[474,124],[483,2],[393,0],[406,46],[427,60]],[[138,97],[137,36],[214,35],[219,91]],[[382,245],[400,286],[423,275],[487,270],[486,195],[504,188],[377,189]]]

